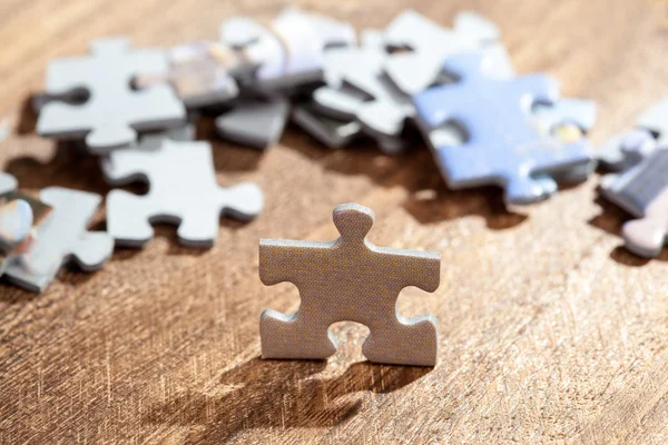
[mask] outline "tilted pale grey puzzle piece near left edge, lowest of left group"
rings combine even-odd
[[[4,276],[33,291],[43,290],[60,267],[70,260],[84,270],[102,267],[114,251],[114,240],[102,231],[87,231],[101,197],[60,187],[46,188],[40,199],[53,210],[37,227],[30,246],[10,257]]]

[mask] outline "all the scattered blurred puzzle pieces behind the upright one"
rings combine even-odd
[[[210,247],[220,215],[257,216],[264,201],[256,185],[216,182],[212,147],[195,140],[191,127],[202,115],[216,117],[222,138],[261,149],[281,138],[288,120],[327,147],[366,138],[389,155],[422,135],[449,187],[497,185],[509,205],[543,200],[559,181],[583,181],[596,166],[586,137],[596,105],[560,98],[549,76],[515,75],[500,40],[498,27],[473,12],[458,14],[450,29],[407,10],[384,30],[357,36],[348,23],[295,8],[267,27],[230,18],[217,39],[169,49],[96,40],[88,56],[49,65],[46,89],[32,102],[37,131],[78,140],[99,157],[111,186],[141,181],[149,191],[111,190],[107,231],[90,233],[102,197],[48,188],[36,200],[2,174],[0,271],[39,290],[70,259],[92,270],[115,245],[144,246],[153,222],[178,225],[186,246]],[[659,168],[662,155],[647,147],[667,132],[645,120],[642,131],[609,144],[617,151],[605,150],[617,157],[607,166],[628,171],[602,188],[645,217],[625,228],[627,244],[657,255],[666,233],[664,185],[640,202],[627,199],[633,171]],[[662,226],[646,239],[649,224]]]

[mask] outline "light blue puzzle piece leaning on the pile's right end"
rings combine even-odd
[[[460,81],[413,97],[421,127],[451,188],[495,184],[504,187],[508,204],[544,199],[546,180],[552,179],[540,174],[589,162],[589,144],[561,142],[532,123],[533,103],[559,99],[554,80],[544,75],[492,78],[484,63],[480,53],[449,58],[444,68]],[[439,129],[452,122],[466,134],[460,146],[439,140]]]

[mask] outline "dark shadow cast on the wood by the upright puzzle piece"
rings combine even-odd
[[[355,363],[334,379],[318,379],[326,362],[263,360],[259,357],[225,373],[219,394],[186,393],[154,406],[144,422],[193,428],[188,443],[223,443],[249,428],[333,427],[353,417],[360,397],[391,393],[432,370],[424,367]]]

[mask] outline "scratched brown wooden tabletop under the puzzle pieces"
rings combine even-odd
[[[106,194],[95,159],[35,135],[26,106],[48,61],[91,38],[138,46],[216,36],[233,14],[269,20],[278,0],[2,0],[0,161],[24,190]],[[443,24],[470,8],[494,20],[520,72],[548,71],[600,105],[595,142],[666,93],[666,4],[642,0],[303,0],[380,28],[412,7]],[[199,128],[213,138],[210,121]],[[597,200],[593,176],[530,208],[493,188],[449,191],[429,152],[331,151],[296,129],[266,152],[214,142],[223,185],[256,180],[267,207],[223,220],[212,250],[161,227],[102,271],[61,273],[33,295],[0,285],[0,443],[665,444],[668,251],[620,246],[627,216]],[[293,312],[292,285],[265,288],[259,237],[332,239],[331,210],[371,206],[379,245],[440,251],[442,284],[406,289],[404,315],[440,323],[434,369],[365,363],[366,335],[337,324],[327,363],[263,362],[258,316]],[[95,227],[104,227],[104,210]]]

